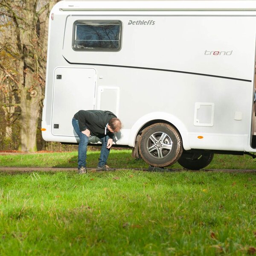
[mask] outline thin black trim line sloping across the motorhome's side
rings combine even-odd
[[[222,78],[222,79],[231,79],[231,80],[244,81],[244,82],[251,82],[252,81],[252,80],[240,79],[240,78],[234,78],[234,77],[227,77],[227,76],[215,76],[215,75],[209,75],[209,74],[186,72],[186,71],[179,71],[179,70],[166,70],[166,69],[153,68],[153,67],[133,67],[133,66],[122,66],[122,65],[110,65],[110,64],[73,63],[73,62],[68,61],[64,56],[63,56],[63,58],[65,59],[65,61],[67,61],[68,64],[73,64],[73,65],[90,65],[90,66],[103,66],[103,67],[125,67],[125,68],[135,68],[135,69],[142,69],[142,70],[155,70],[155,71],[164,71],[164,72],[183,73],[183,74],[196,75],[196,76],[209,76],[209,77],[216,77],[216,78]]]

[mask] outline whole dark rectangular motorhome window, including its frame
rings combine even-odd
[[[76,51],[119,51],[122,23],[119,20],[78,20],[74,23]]]

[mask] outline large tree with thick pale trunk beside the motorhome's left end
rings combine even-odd
[[[0,51],[12,59],[0,70],[15,84],[20,106],[22,151],[37,150],[36,132],[41,101],[44,98],[49,11],[56,0],[1,0],[0,26],[12,31],[0,41]]]

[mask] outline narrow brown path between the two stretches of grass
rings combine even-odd
[[[186,170],[186,169],[162,169],[162,168],[153,168],[150,169],[114,169],[116,171],[128,171],[128,170],[135,170],[135,171],[149,171],[149,172],[180,172],[180,171],[187,171],[187,172],[230,172],[230,173],[255,173],[256,170],[233,170],[233,169],[202,169],[202,170]],[[76,172],[76,168],[57,168],[57,167],[0,167],[0,172],[6,173],[14,173],[14,172]],[[87,168],[88,172],[96,172],[95,168]],[[113,171],[113,170],[110,170]]]

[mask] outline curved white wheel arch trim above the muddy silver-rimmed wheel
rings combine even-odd
[[[166,123],[172,125],[180,134],[183,148],[185,150],[191,149],[189,147],[189,136],[185,124],[176,116],[165,112],[154,112],[140,117],[140,119],[138,119],[131,128],[129,146],[135,147],[138,135],[140,135],[146,127],[155,123]]]

